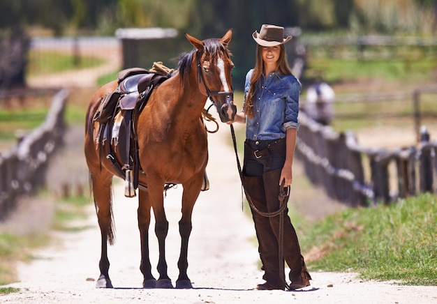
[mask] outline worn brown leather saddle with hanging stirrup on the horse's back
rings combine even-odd
[[[99,144],[101,156],[111,160],[117,175],[126,180],[126,197],[135,197],[138,186],[147,189],[138,183],[140,161],[134,130],[135,119],[147,104],[151,92],[171,75],[172,70],[162,63],[154,63],[151,70],[121,70],[117,75],[117,89],[103,96],[94,114],[93,121],[100,125],[96,142]],[[115,157],[117,149],[121,162]],[[165,189],[172,186],[165,185]]]

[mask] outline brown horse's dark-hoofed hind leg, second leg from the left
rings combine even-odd
[[[147,191],[140,190],[138,204],[138,229],[140,229],[141,264],[140,270],[144,276],[142,287],[155,288],[156,279],[151,274],[149,257],[149,226],[150,226],[150,198]]]

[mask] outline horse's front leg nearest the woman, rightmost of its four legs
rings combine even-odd
[[[176,281],[176,288],[179,289],[193,288],[191,280],[186,273],[188,268],[188,240],[190,238],[191,229],[193,228],[191,215],[193,214],[193,207],[196,199],[198,199],[201,186],[202,176],[196,179],[194,183],[184,185],[184,193],[182,195],[182,218],[179,221],[179,234],[181,235],[181,252],[179,254],[179,261],[177,261],[179,278],[177,278]]]

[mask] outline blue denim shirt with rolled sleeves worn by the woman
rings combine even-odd
[[[253,70],[244,84],[244,100]],[[253,100],[253,118],[246,116],[246,139],[272,140],[286,137],[288,128],[299,128],[299,93],[301,84],[293,75],[270,73],[260,78]],[[243,107],[244,108],[244,107]]]

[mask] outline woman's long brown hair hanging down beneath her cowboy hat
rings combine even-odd
[[[253,98],[255,98],[256,86],[259,84],[259,80],[264,73],[264,63],[262,61],[262,46],[256,45],[256,62],[255,68],[253,68],[253,74],[249,84],[249,92],[247,93],[246,100],[244,101],[244,113],[250,118],[253,118]],[[276,73],[281,75],[292,75],[291,68],[288,65],[286,56],[286,46],[281,45],[281,52],[279,52],[278,67]]]

